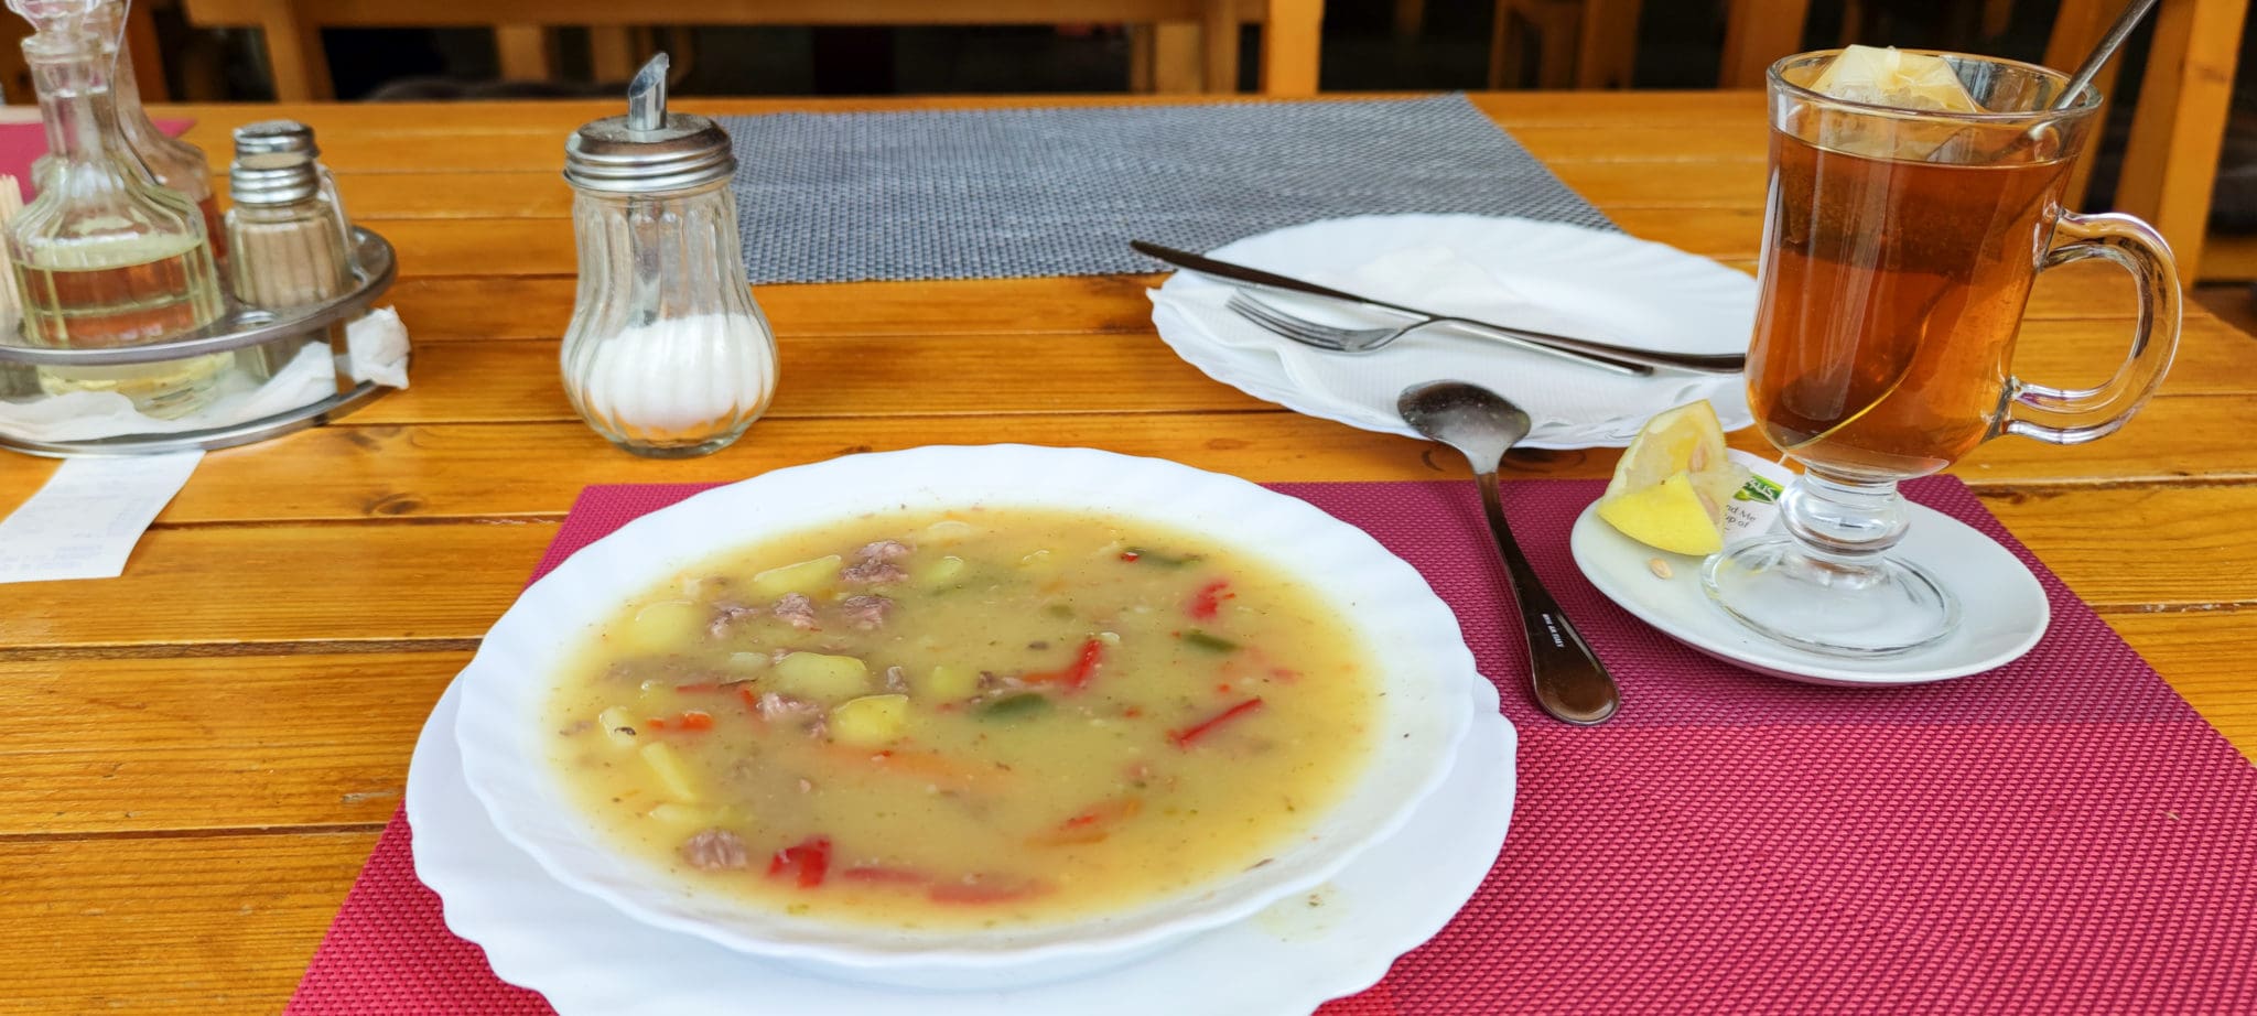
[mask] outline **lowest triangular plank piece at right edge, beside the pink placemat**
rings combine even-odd
[[[2257,695],[2250,695],[2250,646],[2257,646],[2257,610],[2108,614],[2106,621],[2243,759],[2257,763]]]

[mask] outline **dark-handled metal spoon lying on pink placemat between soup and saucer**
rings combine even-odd
[[[1528,436],[1528,413],[1503,395],[1465,382],[1426,382],[1404,388],[1395,400],[1411,429],[1458,449],[1481,483],[1481,506],[1490,515],[1496,555],[1505,562],[1505,587],[1521,607],[1528,630],[1528,677],[1537,704],[1553,718],[1593,725],[1623,704],[1614,675],[1582,641],[1575,625],[1560,612],[1551,589],[1528,567],[1521,544],[1505,526],[1505,503],[1496,492],[1496,465],[1505,449]]]

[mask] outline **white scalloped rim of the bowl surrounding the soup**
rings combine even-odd
[[[1117,513],[1212,537],[1300,580],[1377,659],[1372,754],[1343,797],[1264,865],[1072,923],[898,930],[822,923],[697,892],[614,849],[548,754],[555,675],[627,596],[731,546],[878,508],[973,503]],[[1456,614],[1368,533],[1307,501],[1160,458],[1027,445],[921,447],[767,472],[643,515],[533,583],[463,671],[456,738],[494,826],[551,876],[621,912],[722,946],[855,980],[928,987],[1081,975],[1219,928],[1332,878],[1442,783],[1472,713],[1474,657]],[[1047,966],[1045,966],[1047,964]]]

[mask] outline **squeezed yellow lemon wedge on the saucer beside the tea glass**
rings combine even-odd
[[[1709,402],[1657,413],[1639,429],[1598,499],[1598,517],[1661,551],[1724,549],[1724,501],[1747,467],[1724,456],[1724,427]]]

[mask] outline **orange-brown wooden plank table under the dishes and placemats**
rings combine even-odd
[[[1630,233],[1754,266],[1760,95],[1476,102]],[[183,113],[208,151],[248,120],[318,126],[352,212],[399,246],[415,386],[339,427],[212,454],[124,578],[0,589],[0,1011],[278,1009],[399,806],[424,713],[585,483],[1027,438],[1255,481],[1463,474],[1417,440],[1205,379],[1153,336],[1151,275],[761,287],[783,348],[774,411],[718,456],[632,458],[580,424],[555,368],[573,294],[562,142],[612,104]],[[2097,382],[2131,312],[2117,275],[2056,273],[2018,368]],[[2000,440],[1957,472],[2257,756],[2250,420],[2257,341],[2189,305],[2164,395],[2122,433]],[[1605,449],[1510,463],[1611,465]],[[0,510],[50,470],[0,456]]]

